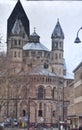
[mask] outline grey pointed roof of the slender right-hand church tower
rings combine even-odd
[[[51,38],[61,38],[61,39],[64,39],[64,33],[62,31],[59,19],[57,21],[57,24],[56,24],[54,30],[53,30]]]

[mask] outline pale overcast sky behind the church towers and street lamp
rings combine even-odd
[[[16,0],[0,0],[0,35],[6,41],[7,19]],[[72,72],[82,61],[82,43],[75,44],[78,29],[82,26],[82,1],[25,1],[21,0],[30,20],[30,33],[36,27],[40,42],[51,49],[51,34],[59,18],[63,29],[64,58],[68,72]],[[79,33],[82,40],[82,30]],[[5,50],[5,47],[4,47]]]

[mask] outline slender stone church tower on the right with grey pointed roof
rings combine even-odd
[[[64,33],[62,31],[59,19],[52,33],[52,71],[62,77],[64,74]]]

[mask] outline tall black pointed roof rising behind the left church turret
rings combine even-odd
[[[8,18],[7,21],[7,37],[9,37],[11,35],[11,30],[13,28],[13,25],[16,21],[16,19],[20,19],[26,34],[29,36],[30,34],[30,29],[29,29],[29,20],[26,16],[26,13],[22,7],[22,4],[20,2],[20,0],[18,0],[18,2],[16,3],[11,15]]]

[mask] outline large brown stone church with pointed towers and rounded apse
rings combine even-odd
[[[6,81],[2,118],[30,117],[30,123],[45,124],[67,119],[67,91],[73,78],[66,70],[64,33],[59,20],[51,39],[49,50],[40,43],[35,29],[30,34],[29,19],[18,0],[7,20],[7,57],[12,76]]]

